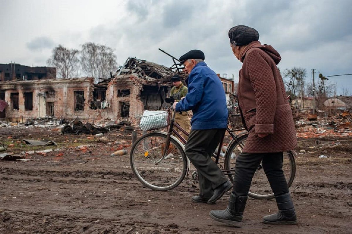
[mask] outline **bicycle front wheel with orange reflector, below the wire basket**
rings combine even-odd
[[[187,159],[182,146],[166,134],[152,132],[139,138],[132,146],[131,169],[147,188],[166,191],[179,185],[187,172]],[[163,152],[168,149],[165,157]]]

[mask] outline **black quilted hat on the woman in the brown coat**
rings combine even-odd
[[[259,33],[251,27],[237,25],[228,31],[228,38],[230,38],[230,42],[232,44],[248,45],[249,43],[259,39]]]

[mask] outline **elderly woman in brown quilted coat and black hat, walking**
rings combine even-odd
[[[295,126],[282,77],[276,65],[279,53],[261,45],[259,33],[244,25],[228,32],[232,51],[243,63],[239,72],[238,104],[249,132],[242,153],[236,159],[233,191],[225,210],[212,210],[216,221],[239,227],[247,194],[258,165],[274,191],[278,212],[263,217],[264,223],[294,224],[296,213],[282,171],[283,152],[297,145]]]

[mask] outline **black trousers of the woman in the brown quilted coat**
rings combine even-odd
[[[279,153],[245,153],[236,159],[232,193],[236,196],[247,196],[254,172],[260,161],[275,196],[288,193],[288,186],[282,171],[283,154]]]

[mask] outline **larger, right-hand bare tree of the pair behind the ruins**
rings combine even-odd
[[[111,71],[117,70],[117,57],[112,48],[92,42],[82,45],[80,63],[83,72],[94,77],[95,83],[100,78],[108,78]]]

